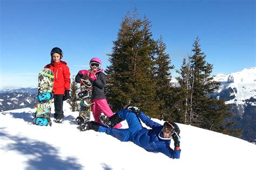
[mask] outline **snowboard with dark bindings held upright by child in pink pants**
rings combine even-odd
[[[78,125],[90,120],[91,106],[94,104],[91,103],[91,95],[92,83],[88,77],[81,79],[80,91],[77,93],[77,98],[79,99],[79,115],[76,118],[76,122]]]

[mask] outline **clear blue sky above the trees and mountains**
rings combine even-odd
[[[213,75],[255,67],[255,2],[205,1],[12,1],[1,0],[0,89],[36,87],[37,74],[60,47],[71,75],[89,69],[92,57],[105,68],[127,12],[150,20],[179,69],[196,37]],[[173,73],[173,76],[177,76]]]

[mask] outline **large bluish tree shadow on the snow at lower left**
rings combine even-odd
[[[5,146],[6,150],[16,150],[26,158],[28,155],[33,155],[34,158],[27,161],[26,169],[83,169],[83,166],[78,164],[76,157],[60,158],[58,148],[45,142],[12,136],[3,132],[3,129],[1,129],[0,138],[14,141]]]

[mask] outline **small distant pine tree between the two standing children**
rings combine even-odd
[[[73,76],[72,83],[71,83],[71,86],[70,86],[70,99],[67,100],[69,105],[70,105],[70,109],[72,111],[79,111],[77,91],[78,91],[78,87],[77,87],[77,84],[75,82],[75,78]]]

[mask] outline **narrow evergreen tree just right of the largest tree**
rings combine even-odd
[[[163,42],[163,37],[160,36],[158,40],[157,52],[156,52],[156,68],[155,68],[155,81],[156,81],[156,100],[159,104],[157,117],[160,119],[171,119],[172,110],[172,83],[171,83],[171,60],[169,54],[166,54],[166,45]]]

